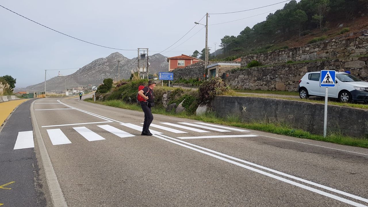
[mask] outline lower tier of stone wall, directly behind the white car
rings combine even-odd
[[[269,67],[252,67],[227,71],[226,82],[232,88],[250,90],[297,91],[299,80],[307,72],[320,70],[350,71],[361,80],[368,81],[368,57],[283,64]]]

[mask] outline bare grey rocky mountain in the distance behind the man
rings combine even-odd
[[[118,52],[112,53],[105,58],[99,58],[93,60],[91,63],[86,64],[75,73],[67,76],[56,76],[49,80],[46,80],[46,90],[61,92],[65,90],[65,87],[72,88],[78,87],[78,85],[96,85],[102,83],[105,78],[115,78],[117,76],[117,64],[120,60],[120,79],[128,79],[131,75],[131,70],[137,69],[137,58],[128,59]],[[141,64],[143,64],[141,60]],[[161,54],[155,54],[149,56],[148,62],[149,73],[155,74],[160,71],[166,72],[169,68],[169,63],[165,56]],[[144,64],[146,65],[146,64]],[[44,91],[45,82],[30,85],[24,90],[26,91]]]

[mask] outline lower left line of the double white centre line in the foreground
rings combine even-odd
[[[229,162],[231,164],[234,164],[234,165],[238,165],[240,167],[243,167],[245,169],[248,169],[248,170],[251,170],[251,171],[254,171],[254,172],[257,172],[257,173],[260,173],[262,175],[265,175],[265,176],[268,176],[270,178],[274,178],[274,179],[277,179],[277,180],[280,180],[280,181],[283,181],[283,182],[286,182],[286,183],[289,183],[291,185],[294,185],[294,186],[298,186],[298,187],[301,187],[302,189],[306,189],[306,190],[309,190],[311,192],[315,192],[315,193],[318,193],[318,194],[321,194],[323,196],[326,196],[326,197],[330,197],[332,199],[336,199],[336,200],[339,200],[339,201],[342,201],[344,203],[347,203],[347,204],[350,204],[350,205],[353,205],[353,206],[357,206],[357,207],[367,207],[363,204],[360,204],[360,203],[356,203],[354,201],[351,201],[351,200],[348,200],[348,199],[344,199],[342,197],[339,197],[339,196],[335,196],[333,194],[330,194],[330,193],[326,193],[322,190],[318,190],[318,189],[315,189],[315,188],[312,188],[312,187],[309,187],[309,186],[306,186],[306,185],[303,185],[303,184],[300,184],[300,183],[297,183],[297,182],[294,182],[294,181],[291,181],[291,180],[288,180],[288,179],[285,179],[285,178],[282,178],[280,176],[276,176],[276,175],[273,175],[271,173],[268,173],[268,172],[264,172],[264,171],[261,171],[259,169],[256,169],[256,168],[252,168],[250,166],[247,166],[247,165],[244,165],[244,164],[241,164],[241,163],[238,163],[238,162],[235,162],[235,161],[232,161],[230,159],[226,159],[226,158],[223,158],[223,157],[220,157],[218,155],[214,155],[214,154],[211,154],[209,152],[206,152],[206,151],[202,151],[202,150],[198,150],[197,148],[194,148],[194,147],[190,147],[190,146],[187,146],[187,145],[184,145],[184,144],[181,144],[181,143],[178,143],[176,141],[173,141],[173,140],[168,140],[167,138],[164,138],[164,137],[161,137],[161,135],[157,135],[157,134],[154,134],[153,136],[155,137],[158,137],[162,140],[166,140],[166,141],[169,141],[171,143],[174,143],[174,144],[177,144],[177,145],[180,145],[182,147],[186,147],[186,148],[189,148],[191,150],[194,150],[194,151],[197,151],[197,152],[200,152],[200,153],[203,153],[203,154],[206,154],[206,155],[209,155],[211,157],[215,157],[217,159],[221,159],[223,161],[226,161],[226,162]],[[356,196],[358,197],[358,196]],[[362,198],[363,199],[363,198]]]

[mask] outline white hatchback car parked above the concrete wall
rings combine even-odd
[[[320,72],[306,73],[299,81],[299,97],[325,96],[325,88],[319,86]],[[368,82],[357,77],[336,71],[336,85],[328,89],[329,98],[338,98],[342,102],[363,101],[368,103]]]

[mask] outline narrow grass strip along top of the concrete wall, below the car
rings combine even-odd
[[[276,92],[276,91],[271,91],[271,92]],[[280,91],[280,92],[283,92],[283,91]],[[236,93],[236,92],[232,92],[232,93],[227,93],[226,95],[228,95],[228,96],[242,96],[242,97],[276,98],[276,99],[284,99],[284,100],[291,100],[291,101],[305,101],[305,102],[310,102],[310,103],[321,103],[321,104],[325,103],[324,100],[319,101],[319,100],[313,100],[313,99],[300,99],[300,98],[289,98],[289,97],[272,97],[272,96],[262,96],[262,94],[260,94],[260,95],[239,94],[239,93]],[[343,102],[338,101],[337,99],[329,99],[328,104],[329,105],[335,105],[335,106],[346,106],[346,107],[350,107],[350,108],[368,109],[368,104],[365,104],[365,103],[343,103]]]

